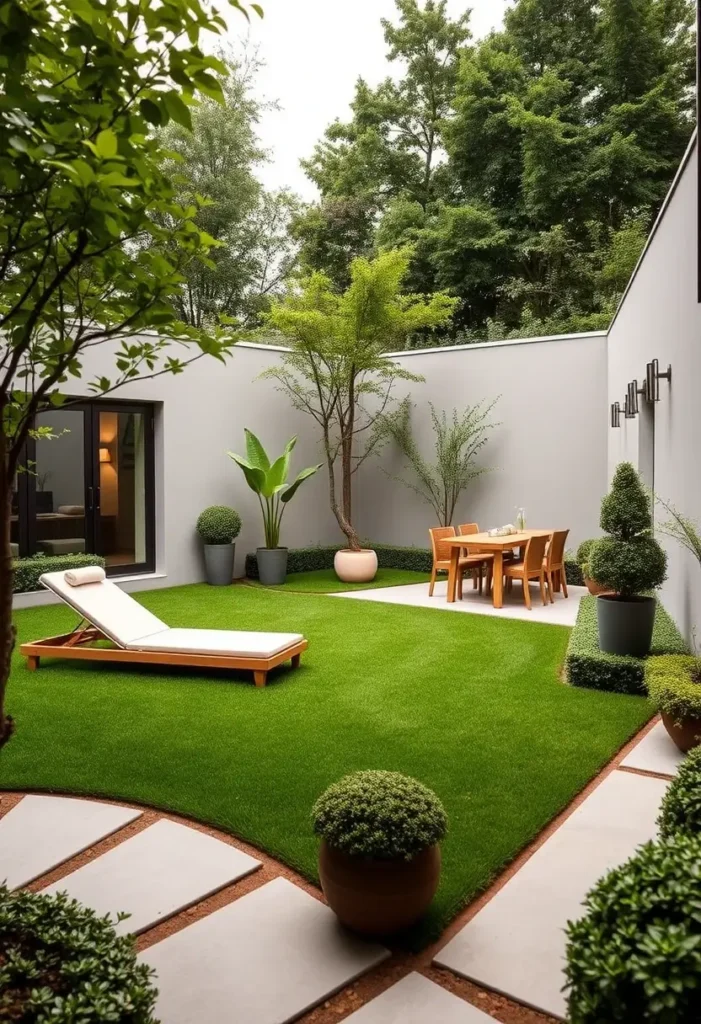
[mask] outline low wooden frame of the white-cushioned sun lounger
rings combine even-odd
[[[223,650],[212,650],[211,652],[199,651],[194,652],[191,650],[178,650],[178,649],[154,649],[155,642],[159,643],[159,637],[163,637],[163,646],[168,646],[169,635],[176,636],[177,634],[208,634],[211,633],[220,634],[221,636],[227,636],[228,631],[209,631],[209,630],[169,630],[164,627],[163,623],[160,623],[155,616],[151,616],[145,608],[138,605],[137,602],[133,601],[127,594],[119,591],[120,598],[122,601],[126,599],[136,605],[136,613],[138,615],[143,614],[144,625],[147,625],[152,630],[152,624],[157,623],[161,627],[164,627],[163,633],[156,632],[154,636],[143,635],[142,641],[150,645],[151,649],[140,649],[139,643],[142,641],[135,640],[129,641],[128,643],[120,642],[114,635],[109,636],[106,629],[102,629],[95,623],[90,622],[86,613],[85,601],[80,601],[83,595],[73,595],[70,594],[65,588],[58,587],[58,581],[52,578],[62,577],[62,573],[46,573],[46,580],[42,577],[42,582],[48,590],[51,590],[58,597],[69,604],[70,607],[74,609],[79,614],[83,614],[83,620],[79,626],[72,633],[64,633],[61,636],[47,637],[44,640],[35,640],[32,643],[23,644],[19,648],[19,652],[27,657],[27,667],[31,670],[38,669],[41,664],[42,657],[61,657],[61,658],[78,658],[90,662],[123,662],[131,665],[172,665],[172,666],[182,666],[185,668],[196,668],[196,669],[224,669],[224,670],[244,670],[253,672],[253,678],[256,686],[265,686],[267,682],[268,673],[277,668],[277,666],[282,665],[284,662],[292,662],[292,668],[297,669],[300,665],[302,657],[302,652],[308,647],[308,641],[301,637],[299,634],[289,636],[295,640],[288,646],[281,649],[275,650],[274,653],[263,654],[262,656],[253,656],[252,654],[233,654],[228,653]],[[62,580],[60,581],[62,584]],[[99,586],[88,585],[88,586]],[[108,587],[115,587],[114,584],[107,583]],[[76,590],[83,590],[84,588],[76,588]],[[82,606],[81,606],[82,605]],[[99,616],[96,616],[99,617]],[[148,630],[146,631],[148,632]],[[240,636],[275,636],[275,634],[239,634]],[[288,635],[284,635],[288,636]],[[280,637],[280,634],[277,634]],[[109,646],[93,646],[98,641],[107,641]],[[177,646],[177,645],[176,645]]]

